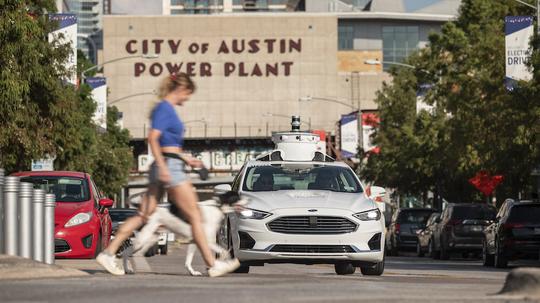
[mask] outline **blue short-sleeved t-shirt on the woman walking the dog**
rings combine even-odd
[[[159,145],[182,147],[184,143],[184,123],[169,102],[161,101],[152,112],[152,128],[161,132]]]

